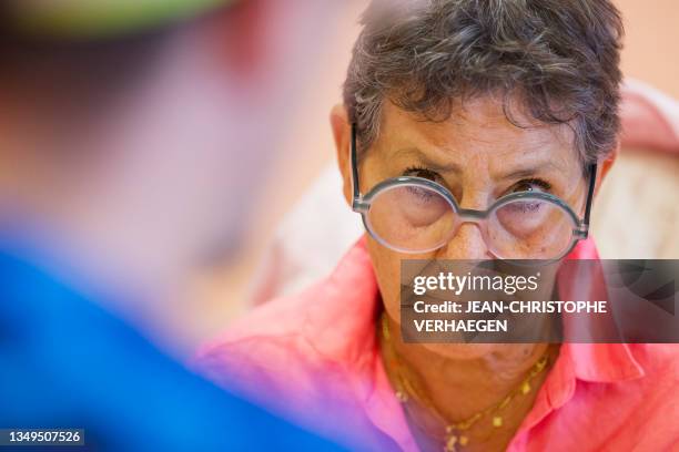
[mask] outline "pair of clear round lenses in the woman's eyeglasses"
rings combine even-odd
[[[366,216],[374,236],[406,253],[442,247],[467,219],[443,194],[416,184],[379,191]],[[489,250],[504,259],[560,257],[570,247],[577,227],[558,203],[537,197],[498,205],[477,223]]]

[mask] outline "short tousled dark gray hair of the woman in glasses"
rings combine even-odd
[[[353,50],[344,104],[359,152],[385,100],[425,121],[454,102],[503,94],[544,124],[568,124],[584,163],[617,142],[619,11],[609,0],[374,0]]]

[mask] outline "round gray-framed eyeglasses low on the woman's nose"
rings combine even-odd
[[[394,177],[362,196],[356,164],[356,129],[352,127],[353,208],[367,232],[399,253],[418,254],[445,246],[464,223],[479,226],[489,251],[499,259],[557,260],[587,238],[596,181],[596,164],[584,219],[563,199],[548,193],[519,192],[504,196],[486,210],[460,208],[443,185],[423,177]]]

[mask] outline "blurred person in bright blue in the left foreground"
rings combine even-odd
[[[122,320],[234,249],[244,170],[264,177],[274,147],[294,78],[271,89],[251,71],[275,37],[257,2],[188,20],[216,3],[1,7],[0,428],[84,429],[73,450],[337,449]]]

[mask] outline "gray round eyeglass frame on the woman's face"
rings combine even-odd
[[[553,260],[561,259],[564,256],[566,256],[568,253],[572,250],[572,248],[579,240],[586,239],[589,236],[589,217],[591,213],[591,204],[594,199],[594,192],[595,192],[595,186],[596,186],[596,181],[597,181],[597,163],[596,162],[591,163],[587,170],[587,173],[589,174],[589,183],[587,187],[587,201],[585,204],[585,215],[582,216],[582,218],[579,218],[578,215],[572,210],[572,208],[570,208],[570,206],[564,199],[559,198],[558,196],[551,195],[549,193],[535,193],[535,192],[511,193],[509,195],[503,196],[499,199],[497,199],[487,209],[476,210],[476,209],[460,208],[457,205],[457,202],[455,201],[455,197],[453,196],[449,189],[447,189],[446,187],[444,187],[443,185],[434,181],[429,181],[427,178],[417,177],[417,176],[399,176],[399,177],[392,177],[392,178],[382,181],[381,183],[375,185],[366,195],[362,195],[361,187],[358,186],[359,184],[358,184],[358,164],[357,164],[357,157],[356,157],[356,124],[352,124],[351,135],[352,136],[351,136],[351,144],[349,144],[349,164],[352,167],[352,189],[353,189],[352,209],[361,214],[361,217],[363,219],[363,225],[365,229],[371,234],[371,236],[373,236],[373,238],[375,238],[377,242],[379,242],[382,245],[388,248],[395,249],[401,253],[411,253],[411,254],[425,253],[425,251],[419,251],[419,250],[409,251],[409,250],[398,249],[397,247],[386,243],[382,237],[375,234],[373,232],[373,228],[369,225],[367,214],[371,210],[371,205],[373,203],[373,199],[375,199],[375,197],[381,192],[385,191],[386,188],[392,188],[394,186],[402,186],[402,185],[422,186],[422,187],[437,192],[438,194],[444,196],[444,198],[447,199],[448,203],[450,203],[450,205],[454,207],[454,213],[456,215],[458,215],[462,218],[465,218],[464,223],[469,222],[469,219],[472,222],[483,220],[487,218],[488,215],[491,212],[494,212],[496,208],[505,204],[515,202],[517,199],[538,199],[538,201],[547,201],[547,202],[557,204],[559,207],[561,207],[565,212],[568,213],[574,224],[576,225],[576,228],[572,230],[572,238],[571,238],[570,246],[560,256],[551,258],[551,259],[546,259],[546,260],[553,261]],[[434,249],[438,249],[442,246],[444,245],[440,245]]]

